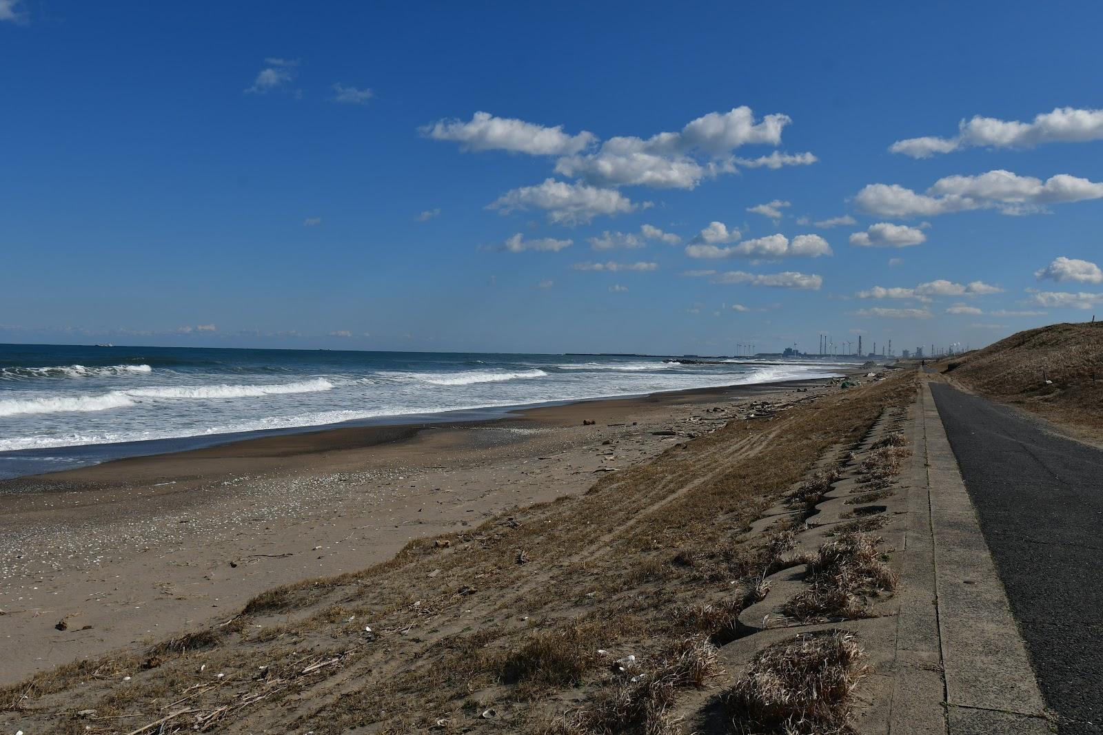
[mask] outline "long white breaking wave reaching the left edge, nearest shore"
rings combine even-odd
[[[333,383],[324,378],[270,386],[175,386],[113,390],[99,396],[51,396],[15,398],[0,401],[0,417],[20,413],[62,413],[66,411],[107,411],[133,406],[142,398],[204,399],[253,398],[280,393],[312,393],[330,390]]]

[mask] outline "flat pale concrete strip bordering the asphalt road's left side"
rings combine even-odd
[[[1050,733],[1026,645],[925,380],[914,431],[925,477],[914,478],[909,501],[890,732]]]

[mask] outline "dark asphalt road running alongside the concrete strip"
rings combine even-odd
[[[1103,451],[931,391],[1059,732],[1103,733]]]

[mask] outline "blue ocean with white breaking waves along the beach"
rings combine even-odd
[[[816,360],[0,345],[0,478],[329,424],[838,375]]]

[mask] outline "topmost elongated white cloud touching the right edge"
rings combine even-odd
[[[925,159],[962,148],[1034,148],[1042,143],[1103,140],[1103,110],[1058,107],[1035,116],[1034,122],[1006,121],[979,115],[957,125],[954,138],[909,138],[889,147],[893,153]]]

